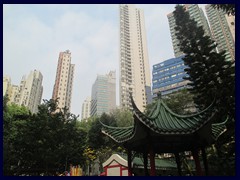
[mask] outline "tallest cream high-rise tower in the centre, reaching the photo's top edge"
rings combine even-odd
[[[151,79],[143,10],[120,5],[120,106],[143,111],[151,102]]]

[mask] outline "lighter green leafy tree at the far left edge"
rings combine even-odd
[[[27,159],[25,134],[31,114],[23,106],[7,105],[3,99],[3,174],[13,175],[19,171],[20,163]]]

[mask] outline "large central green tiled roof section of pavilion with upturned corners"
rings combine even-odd
[[[178,115],[172,112],[162,99],[158,99],[148,115],[143,114],[133,100],[132,104],[134,116],[149,129],[159,134],[191,134],[205,125],[214,115],[211,109],[212,104],[193,115]]]

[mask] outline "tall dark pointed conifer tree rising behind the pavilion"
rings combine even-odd
[[[184,7],[177,5],[174,11],[176,36],[189,80],[190,91],[199,109],[208,107],[215,100],[215,108],[221,115],[235,115],[235,64],[225,60],[225,51],[215,52],[216,44],[204,34],[202,26],[190,18]],[[221,119],[220,119],[221,121]]]

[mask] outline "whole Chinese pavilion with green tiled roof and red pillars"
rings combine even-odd
[[[219,135],[226,130],[225,123],[213,124],[216,110],[212,104],[205,110],[193,115],[178,115],[172,112],[159,95],[157,103],[149,114],[142,113],[131,97],[134,124],[130,127],[111,127],[102,123],[102,133],[121,144],[128,152],[129,176],[132,175],[132,152],[142,153],[145,175],[148,174],[148,157],[150,158],[150,175],[156,175],[155,154],[173,153],[178,173],[181,175],[179,153],[191,151],[197,175],[203,175],[199,159],[202,159],[205,174],[208,175],[208,164],[205,147],[213,144]]]

